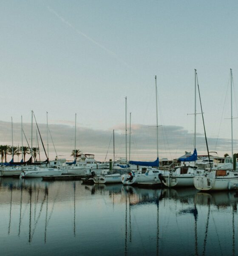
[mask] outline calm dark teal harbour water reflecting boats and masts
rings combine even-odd
[[[238,196],[0,178],[1,255],[238,255]]]

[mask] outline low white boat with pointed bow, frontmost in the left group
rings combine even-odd
[[[58,176],[58,175],[62,175],[62,169],[35,167],[35,169],[33,170],[23,171],[20,174],[20,178]]]

